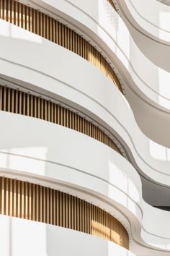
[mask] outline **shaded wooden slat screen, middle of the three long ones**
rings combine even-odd
[[[99,140],[122,154],[120,149],[117,148],[117,145],[115,145],[115,142],[102,129],[92,124],[91,121],[86,120],[68,108],[31,95],[30,93],[23,93],[20,90],[14,90],[0,85],[0,110],[36,117],[74,129],[95,140]]]

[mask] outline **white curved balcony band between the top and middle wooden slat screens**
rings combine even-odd
[[[18,38],[1,38],[1,77],[7,77],[13,83],[17,80],[17,88],[21,85],[27,91],[65,101],[76,111],[97,121],[125,146],[135,168],[148,179],[169,187],[169,159],[156,159],[165,148],[143,135],[128,102],[112,82],[71,51],[19,27],[14,26],[14,30],[20,33]],[[32,54],[27,51],[28,47]]]

